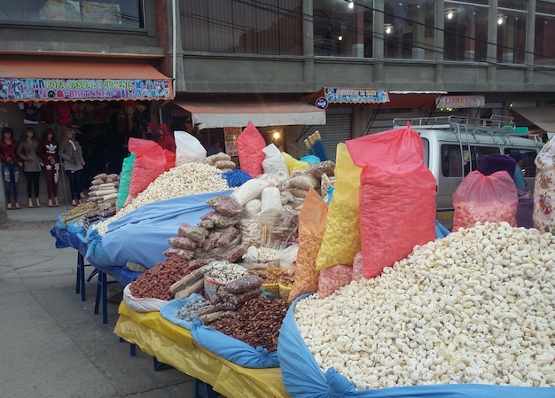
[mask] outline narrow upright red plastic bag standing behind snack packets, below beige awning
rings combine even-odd
[[[262,160],[265,154],[262,150],[266,147],[266,141],[251,121],[237,137],[236,144],[241,170],[253,178],[260,176],[264,172]]]

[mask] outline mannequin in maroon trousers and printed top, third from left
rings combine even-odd
[[[46,191],[48,192],[48,207],[59,207],[58,182],[59,182],[59,154],[58,142],[54,137],[53,129],[45,129],[43,140],[38,146],[38,155],[43,160],[43,172],[46,177]]]

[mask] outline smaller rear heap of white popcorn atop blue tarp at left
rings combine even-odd
[[[103,222],[97,222],[93,228],[98,230],[100,236],[103,236],[106,234],[110,223],[146,204],[164,199],[228,189],[227,183],[222,178],[222,172],[217,168],[202,163],[184,163],[158,176],[129,205],[123,207],[113,217]]]

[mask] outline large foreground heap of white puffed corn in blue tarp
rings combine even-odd
[[[553,292],[554,235],[477,223],[416,246],[379,277],[294,303],[277,351],[285,387],[292,396],[330,396],[332,386],[360,397],[553,396]],[[387,388],[398,386],[413,387]]]

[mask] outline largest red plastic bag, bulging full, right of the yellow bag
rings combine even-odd
[[[418,133],[408,126],[346,142],[363,168],[360,231],[363,274],[377,277],[415,245],[435,239],[435,178]]]

